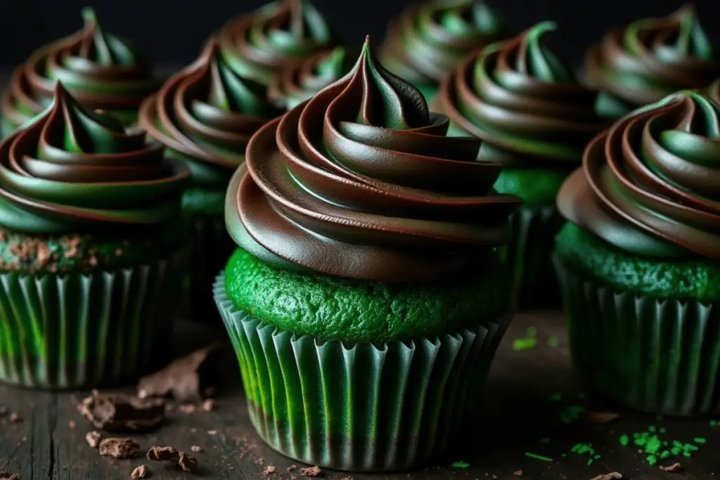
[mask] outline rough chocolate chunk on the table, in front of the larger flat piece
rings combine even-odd
[[[160,399],[104,395],[96,390],[78,404],[78,412],[107,432],[145,432],[165,420],[165,404]]]

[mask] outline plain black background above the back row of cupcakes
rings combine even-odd
[[[579,63],[585,49],[613,26],[643,17],[665,16],[682,0],[487,0],[514,30],[552,19],[559,30],[548,41]],[[129,37],[156,63],[192,60],[202,42],[226,20],[264,0],[0,0],[0,68],[22,62],[36,47],[82,26],[80,10],[94,6],[104,27]],[[328,22],[351,44],[364,35],[379,42],[387,22],[411,0],[315,0]],[[720,0],[698,0],[706,32],[717,39]]]

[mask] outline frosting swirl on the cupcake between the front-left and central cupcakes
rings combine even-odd
[[[250,137],[279,114],[265,87],[233,72],[211,39],[197,61],[145,100],[140,124],[186,160],[194,184],[225,189]]]

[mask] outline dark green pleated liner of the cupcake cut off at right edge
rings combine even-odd
[[[720,413],[720,305],[620,291],[554,263],[572,362],[589,390],[645,412]]]

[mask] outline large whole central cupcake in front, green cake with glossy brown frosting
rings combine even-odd
[[[261,438],[350,471],[439,456],[477,412],[520,204],[366,41],[348,76],[248,145],[215,284]]]

